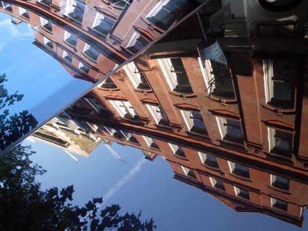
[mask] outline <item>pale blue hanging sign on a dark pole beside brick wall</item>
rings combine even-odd
[[[224,55],[216,40],[214,40],[214,43],[209,46],[200,43],[197,49],[201,60],[211,60],[223,65],[227,65],[226,56]]]

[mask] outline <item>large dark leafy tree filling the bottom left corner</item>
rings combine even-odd
[[[0,159],[0,230],[128,230],[151,231],[153,219],[141,221],[141,211],[120,215],[118,204],[100,210],[103,198],[72,206],[73,185],[41,189],[36,175],[46,170],[33,164],[31,146],[17,145]],[[100,210],[100,211],[99,211]],[[99,214],[100,212],[100,214]]]

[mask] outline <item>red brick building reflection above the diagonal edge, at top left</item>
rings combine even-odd
[[[203,1],[1,1],[0,12],[33,29],[34,45],[74,77],[98,82]],[[138,12],[138,14],[136,13]]]

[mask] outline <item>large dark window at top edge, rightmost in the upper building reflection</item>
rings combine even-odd
[[[147,20],[162,29],[168,29],[176,17],[185,9],[185,0],[161,0],[146,16]]]

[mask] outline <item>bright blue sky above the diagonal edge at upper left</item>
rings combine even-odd
[[[0,73],[7,75],[10,94],[24,94],[21,102],[10,106],[10,113],[27,109],[43,122],[92,84],[72,78],[33,42],[33,30],[26,23],[14,25],[9,15],[0,13]],[[46,107],[46,101],[51,106]]]

